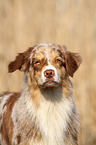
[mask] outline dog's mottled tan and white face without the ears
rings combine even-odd
[[[65,75],[65,60],[56,46],[41,45],[33,50],[32,67],[40,87],[57,87]]]

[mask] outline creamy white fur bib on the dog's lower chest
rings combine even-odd
[[[64,145],[70,112],[70,102],[67,99],[60,102],[42,101],[37,118],[44,145]]]

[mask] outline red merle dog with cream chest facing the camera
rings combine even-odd
[[[19,53],[8,70],[24,72],[22,92],[0,95],[1,145],[77,145],[78,112],[72,83],[81,64],[65,46],[38,44]]]

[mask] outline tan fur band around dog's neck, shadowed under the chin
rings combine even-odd
[[[61,97],[68,98],[69,96],[72,96],[72,83],[69,78],[63,80],[62,84],[60,84],[58,87],[47,87],[42,88],[37,85],[35,79],[25,75],[25,86],[24,90],[28,90],[30,92],[30,96],[32,98],[38,98],[38,93],[43,96],[45,100],[51,101],[60,101]],[[58,97],[59,93],[59,97]],[[62,96],[62,94],[64,94]],[[42,97],[41,97],[42,98]]]

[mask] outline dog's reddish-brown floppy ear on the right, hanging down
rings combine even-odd
[[[65,59],[67,72],[71,77],[73,77],[73,74],[81,64],[82,59],[78,53],[73,53],[69,51],[66,52]]]

